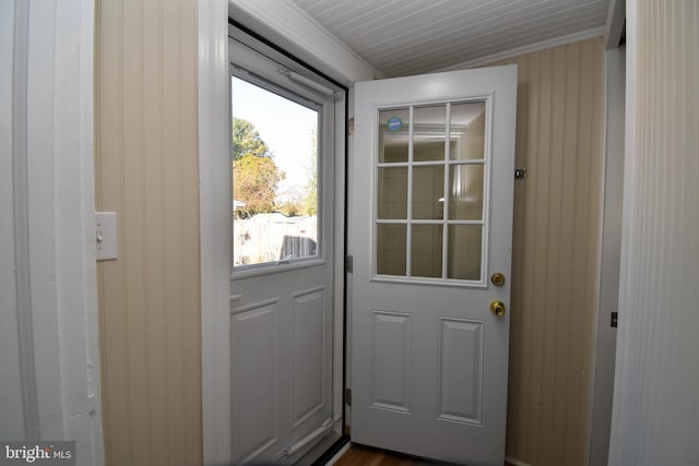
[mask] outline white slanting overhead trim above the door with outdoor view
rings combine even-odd
[[[232,4],[239,13],[250,15],[268,29],[274,31],[285,44],[293,45],[288,51],[308,60],[309,64],[345,85],[383,77],[294,2],[275,2],[274,8],[259,0],[232,0]]]

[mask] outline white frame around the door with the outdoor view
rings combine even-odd
[[[369,80],[374,70],[311,23],[291,2],[275,9],[256,1],[200,0],[198,4],[199,176],[202,306],[202,416],[204,464],[230,461],[230,368],[228,314],[230,258],[228,15],[342,84]],[[315,45],[315,46],[313,46]],[[341,107],[341,106],[339,106]],[[345,112],[335,116],[345,127]],[[345,138],[337,131],[335,153],[335,243],[344,243]],[[342,411],[344,250],[335,248],[333,403]]]

